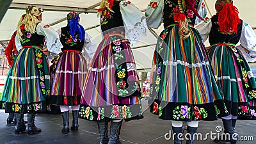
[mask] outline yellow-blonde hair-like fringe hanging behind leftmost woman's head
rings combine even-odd
[[[17,36],[19,40],[22,40],[22,36],[24,35],[24,33],[22,33],[22,29],[20,28],[23,24],[25,26],[25,31],[29,31],[29,33],[33,34],[36,30],[36,24],[39,22],[41,21],[36,19],[36,17],[30,13],[26,13],[24,18],[21,17],[17,25]]]

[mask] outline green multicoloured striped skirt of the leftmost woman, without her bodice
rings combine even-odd
[[[49,64],[41,47],[22,48],[10,68],[1,97],[6,113],[47,111],[45,97],[50,93]]]

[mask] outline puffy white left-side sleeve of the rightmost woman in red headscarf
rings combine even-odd
[[[202,21],[195,26],[195,29],[197,29],[199,31],[204,42],[207,40],[208,36],[210,35],[211,28],[212,28],[212,20],[211,19]]]

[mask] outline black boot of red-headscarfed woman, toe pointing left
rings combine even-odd
[[[231,144],[236,144],[237,140],[232,138],[232,135],[235,133],[232,127],[232,120],[222,119],[222,122],[225,135],[222,135],[220,138],[216,138],[214,141],[216,143],[227,143],[228,141],[230,141]]]

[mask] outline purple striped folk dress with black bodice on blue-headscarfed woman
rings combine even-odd
[[[69,26],[61,28],[58,33],[61,33],[60,40],[63,48],[54,70],[49,104],[77,106],[81,101],[87,73],[86,59],[82,51],[91,46],[92,38],[85,33],[84,39],[81,40],[79,33],[75,33],[76,39],[73,40],[70,38]]]

